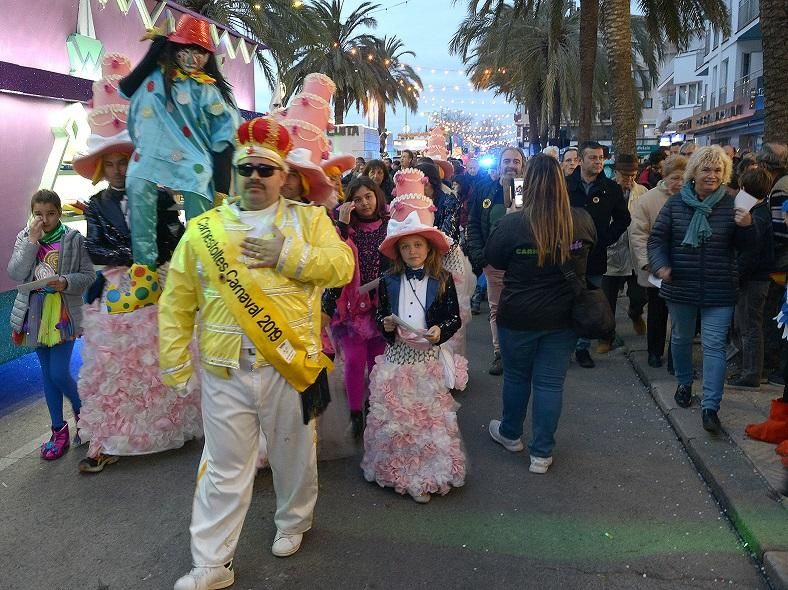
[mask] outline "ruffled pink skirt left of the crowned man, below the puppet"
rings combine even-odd
[[[181,393],[159,378],[157,314],[156,305],[116,315],[83,307],[79,427],[89,457],[157,453],[202,436],[199,371]]]

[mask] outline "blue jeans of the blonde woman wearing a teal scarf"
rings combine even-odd
[[[700,339],[703,346],[703,403],[704,410],[720,409],[725,386],[725,352],[728,329],[733,317],[733,306],[698,307],[668,301],[672,334],[673,368],[679,385],[692,385],[692,339],[695,321],[700,313]]]

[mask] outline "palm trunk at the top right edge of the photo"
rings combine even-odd
[[[764,141],[788,143],[788,5],[785,0],[761,0],[763,82],[766,98]]]

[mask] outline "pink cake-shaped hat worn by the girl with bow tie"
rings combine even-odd
[[[391,218],[386,228],[386,239],[378,248],[387,258],[396,259],[397,242],[405,236],[419,235],[441,254],[451,248],[452,239],[433,225],[435,205],[424,194],[427,182],[424,173],[415,168],[406,168],[394,175],[397,198],[389,206]]]

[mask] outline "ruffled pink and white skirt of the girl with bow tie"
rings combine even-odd
[[[398,342],[375,361],[361,468],[368,481],[400,494],[446,494],[465,483],[457,403],[437,356],[400,364]],[[394,349],[392,351],[392,348]],[[412,354],[400,355],[413,359]]]

